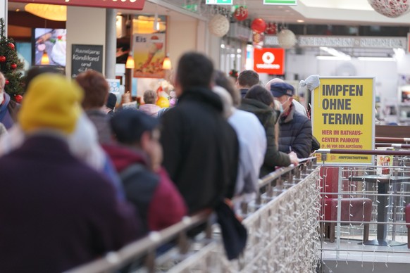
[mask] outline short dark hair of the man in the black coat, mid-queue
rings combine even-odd
[[[182,89],[189,87],[210,88],[213,76],[213,63],[204,54],[188,52],[178,62],[177,82]]]

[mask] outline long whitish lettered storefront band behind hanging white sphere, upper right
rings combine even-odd
[[[265,45],[277,46],[278,37],[265,37]],[[299,47],[347,47],[347,48],[374,48],[374,49],[406,49],[407,39],[404,37],[345,37],[345,36],[299,36]]]

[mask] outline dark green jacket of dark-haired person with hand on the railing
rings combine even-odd
[[[265,129],[267,146],[265,160],[263,160],[259,177],[263,177],[266,174],[273,172],[276,166],[289,166],[289,155],[278,151],[278,148],[276,147],[276,114],[273,111],[273,108],[256,99],[242,99],[242,103],[239,108],[250,113],[254,113]]]

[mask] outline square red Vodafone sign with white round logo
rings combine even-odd
[[[285,49],[254,49],[254,70],[273,75],[285,74]]]

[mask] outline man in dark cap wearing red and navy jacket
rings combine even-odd
[[[104,148],[120,174],[126,198],[142,218],[145,231],[161,230],[180,222],[187,207],[161,166],[156,118],[125,109],[113,115],[110,123],[118,144]]]

